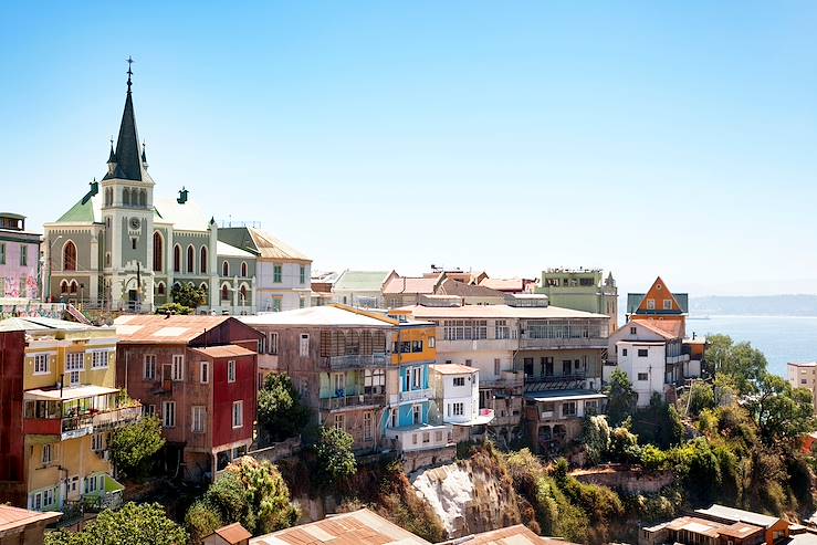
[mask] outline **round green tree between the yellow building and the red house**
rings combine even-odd
[[[146,417],[116,430],[111,438],[111,455],[117,473],[144,475],[150,469],[154,454],[164,446],[161,425],[156,417]]]

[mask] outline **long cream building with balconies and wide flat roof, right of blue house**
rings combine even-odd
[[[608,318],[549,306],[413,305],[391,311],[437,325],[437,358],[480,373],[480,407],[500,440],[521,433],[525,392],[598,389]],[[528,305],[530,302],[523,304]]]

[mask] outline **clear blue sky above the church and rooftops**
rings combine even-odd
[[[104,174],[133,55],[157,195],[316,270],[817,292],[813,1],[240,4],[3,2],[0,209]]]

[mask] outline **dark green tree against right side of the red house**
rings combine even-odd
[[[297,434],[310,420],[301,395],[287,375],[271,374],[258,395],[258,422],[264,440],[281,441]]]

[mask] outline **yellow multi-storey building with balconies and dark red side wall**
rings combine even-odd
[[[0,502],[33,511],[121,503],[109,434],[142,407],[115,375],[113,327],[0,322]]]

